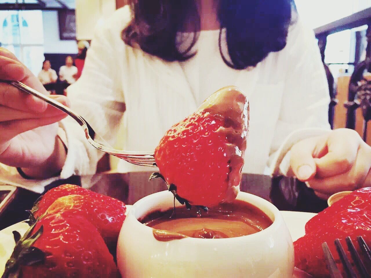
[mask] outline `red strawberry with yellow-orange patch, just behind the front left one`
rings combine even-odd
[[[67,195],[58,198],[46,210],[46,215],[68,213],[89,220],[109,246],[116,248],[118,235],[125,220],[125,205],[114,198],[89,195]]]

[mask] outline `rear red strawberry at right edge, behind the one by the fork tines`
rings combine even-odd
[[[305,232],[310,233],[318,230],[334,217],[340,211],[350,208],[364,208],[371,211],[371,187],[365,187],[354,191],[337,201],[331,207],[326,208],[321,213],[317,214],[305,225]]]

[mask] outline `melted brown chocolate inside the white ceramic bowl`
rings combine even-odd
[[[241,200],[210,207],[200,214],[196,207],[154,211],[139,221],[152,227],[157,240],[184,237],[219,239],[251,235],[266,229],[272,220],[259,208]]]

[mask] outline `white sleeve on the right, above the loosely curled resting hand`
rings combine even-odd
[[[302,139],[329,132],[329,91],[314,33],[300,19],[291,26],[286,49],[282,106],[270,148],[269,172],[286,175],[290,149]]]

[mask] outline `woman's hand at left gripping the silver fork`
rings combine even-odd
[[[4,48],[0,48],[0,79],[21,81],[48,94],[37,77]],[[68,105],[64,96],[51,97]],[[0,162],[25,168],[26,174],[35,174],[35,177],[41,178],[42,171],[47,168],[53,175],[56,171],[53,168],[60,168],[64,161],[62,158],[56,162],[54,156],[62,153],[61,142],[56,139],[57,122],[65,117],[65,113],[44,101],[0,83]]]

